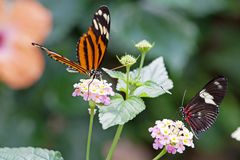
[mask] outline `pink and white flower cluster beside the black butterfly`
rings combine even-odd
[[[194,148],[193,133],[182,121],[169,119],[157,120],[149,132],[154,139],[153,148],[158,150],[166,147],[168,153],[183,153],[185,146]]]

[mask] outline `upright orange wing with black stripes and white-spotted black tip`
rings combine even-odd
[[[77,59],[84,69],[98,69],[106,53],[109,32],[110,13],[106,6],[101,6],[94,14],[88,32],[83,34],[77,44]]]

